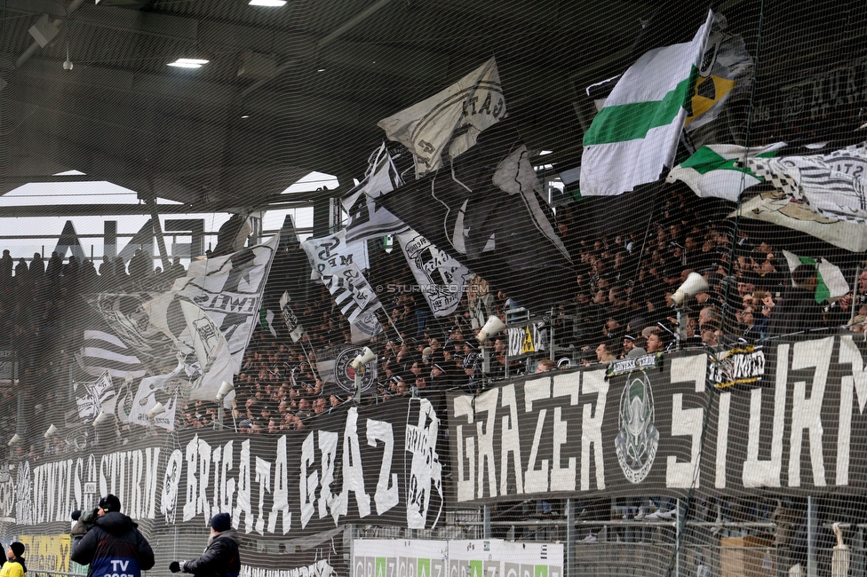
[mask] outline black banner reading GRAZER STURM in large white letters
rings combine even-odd
[[[736,354],[725,362],[678,352],[634,370],[597,365],[452,393],[458,504],[690,489],[863,492],[863,339],[841,333]]]

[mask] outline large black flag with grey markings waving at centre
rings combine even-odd
[[[540,192],[527,146],[505,121],[449,167],[377,202],[494,290],[544,313],[568,298],[571,261]]]

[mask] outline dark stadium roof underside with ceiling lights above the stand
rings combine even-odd
[[[0,193],[80,170],[86,176],[72,178],[107,180],[143,200],[170,199],[198,212],[309,203],[309,194],[281,193],[311,170],[343,183],[359,178],[383,138],[380,119],[492,55],[529,148],[551,150],[546,163],[574,168],[593,114],[585,87],[622,72],[642,20],[659,7],[97,2],[4,3]],[[758,22],[758,3],[718,4],[730,22],[737,12],[750,12],[744,21],[751,26]],[[179,58],[209,62],[167,66]]]

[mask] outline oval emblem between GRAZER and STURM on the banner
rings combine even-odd
[[[631,373],[620,395],[620,432],[615,447],[617,462],[632,483],[643,481],[653,467],[659,447],[659,431],[653,418],[653,391],[648,375]]]

